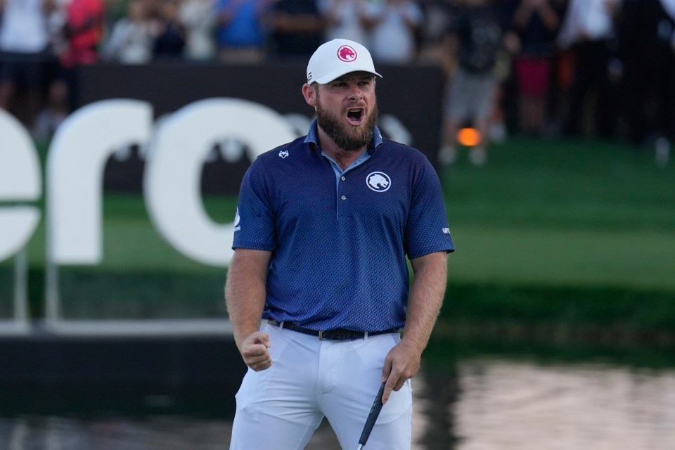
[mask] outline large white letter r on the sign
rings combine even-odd
[[[115,148],[146,143],[152,124],[150,103],[116,99],[86,105],[58,128],[47,158],[51,262],[101,262],[105,162]]]

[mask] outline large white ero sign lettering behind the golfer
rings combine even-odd
[[[304,134],[308,123],[238,98],[196,101],[156,126],[152,105],[145,101],[111,99],[80,108],[59,127],[47,154],[47,263],[101,264],[105,162],[116,149],[139,144],[146,149],[143,198],[155,229],[186,257],[227,266],[234,224],[212,221],[200,193],[201,169],[210,149],[234,139],[255,160]],[[383,116],[380,123],[392,139],[411,140],[396,117]],[[0,110],[0,261],[23,248],[37,228],[41,211],[30,203],[39,200],[41,187],[30,135]]]

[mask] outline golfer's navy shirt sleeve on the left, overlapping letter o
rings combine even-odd
[[[276,248],[274,208],[269,179],[259,159],[246,171],[237,202],[232,248],[274,250]]]

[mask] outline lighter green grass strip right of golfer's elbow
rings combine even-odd
[[[675,293],[666,231],[456,226],[451,282],[608,286]]]

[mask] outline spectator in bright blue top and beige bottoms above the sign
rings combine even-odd
[[[220,60],[257,63],[265,56],[270,0],[218,0],[217,45]]]

